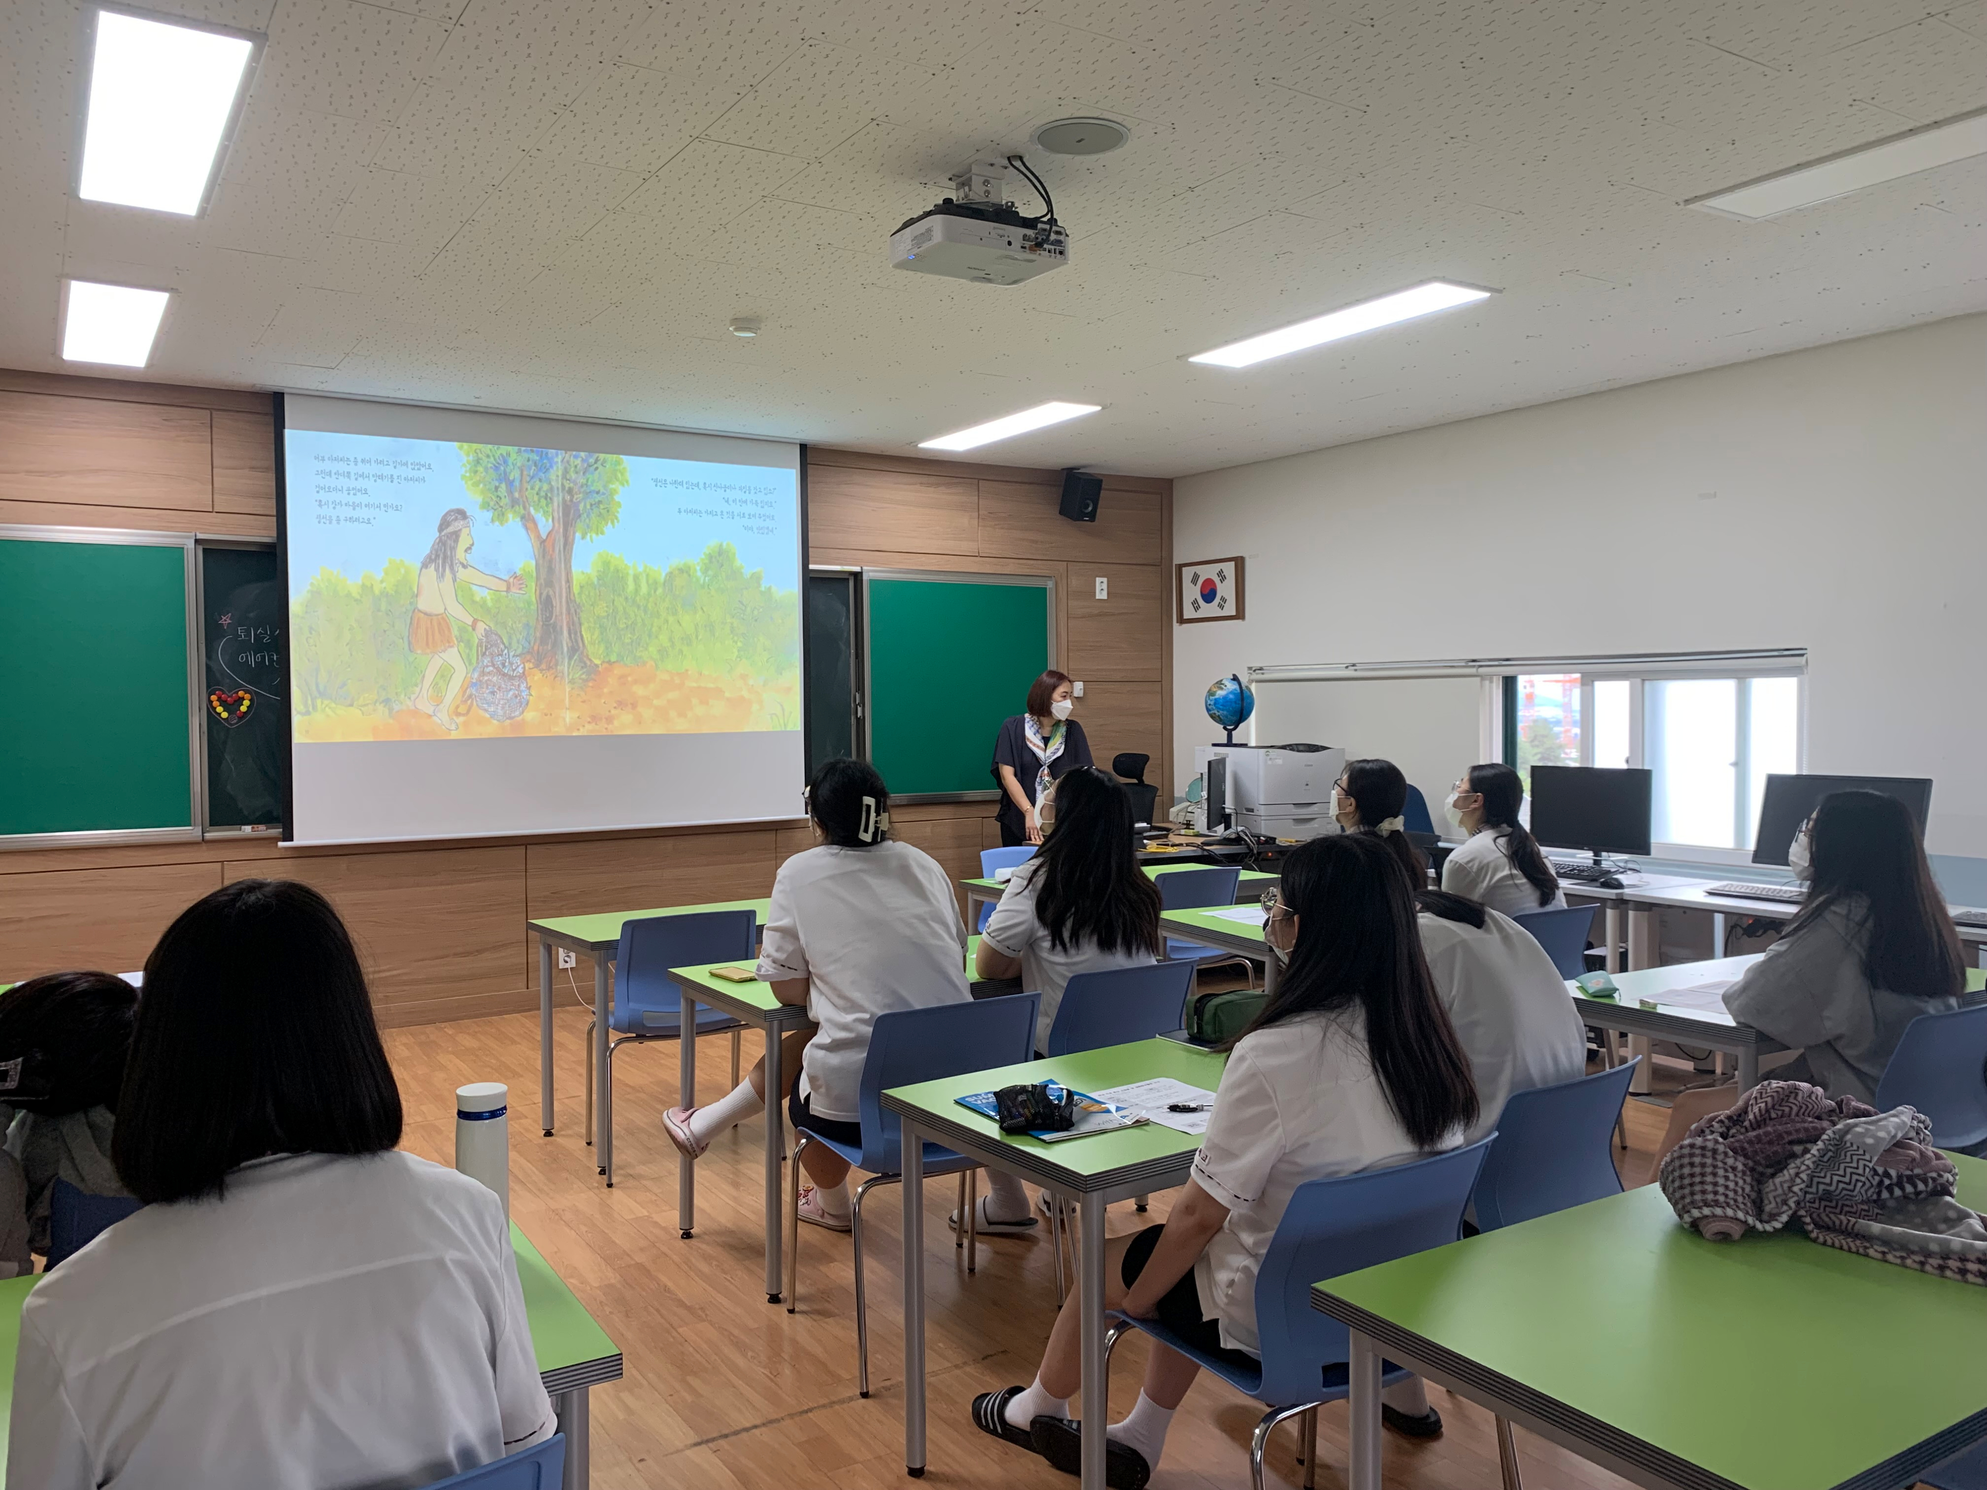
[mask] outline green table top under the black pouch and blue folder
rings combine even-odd
[[[1003,1065],[992,1071],[974,1071],[964,1077],[944,1081],[924,1081],[916,1087],[894,1087],[882,1095],[882,1105],[890,1111],[910,1115],[920,1128],[932,1132],[938,1142],[946,1142],[944,1128],[972,1134],[980,1142],[992,1142],[1003,1150],[1025,1156],[1023,1170],[1039,1174],[1053,1168],[1057,1178],[1097,1180],[1117,1170],[1150,1164],[1154,1160],[1190,1160],[1200,1140],[1188,1132],[1176,1132],[1156,1122],[1117,1132],[1099,1132],[1089,1138],[1069,1138],[1045,1144],[1027,1134],[1009,1136],[990,1117],[982,1117],[970,1107],[960,1107],[958,1097],[1009,1087],[1017,1081],[1059,1081],[1075,1091],[1097,1093],[1105,1087],[1125,1087],[1133,1081],[1152,1077],[1172,1077],[1190,1087],[1214,1091],[1220,1087],[1226,1055],[1200,1051],[1170,1039],[1141,1039],[1131,1045],[1111,1045],[1101,1051],[1079,1055],[1051,1055],[1043,1061]],[[1077,1184],[1075,1188],[1083,1188]]]

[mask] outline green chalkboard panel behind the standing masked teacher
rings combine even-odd
[[[1049,580],[864,574],[868,747],[892,797],[995,795],[994,737],[1055,654]]]

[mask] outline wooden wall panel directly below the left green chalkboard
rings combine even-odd
[[[26,870],[32,854],[12,860]],[[0,878],[0,983],[66,968],[143,968],[173,918],[221,884],[221,864],[8,874]]]

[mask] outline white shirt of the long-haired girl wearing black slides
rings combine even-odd
[[[1387,1105],[1357,1009],[1244,1035],[1194,1154],[1194,1180],[1228,1206],[1194,1264],[1200,1311],[1220,1321],[1222,1345],[1258,1353],[1256,1273],[1299,1184],[1411,1158],[1421,1152]]]

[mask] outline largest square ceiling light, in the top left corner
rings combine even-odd
[[[99,10],[76,195],[199,215],[252,54],[246,36]]]

